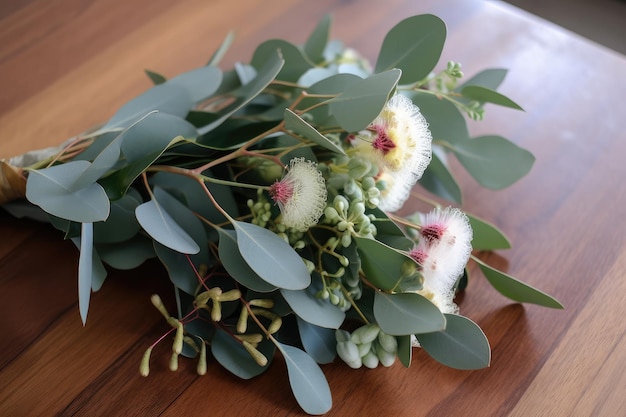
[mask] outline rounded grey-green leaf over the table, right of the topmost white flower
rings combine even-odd
[[[480,136],[452,145],[459,162],[482,186],[499,190],[532,168],[535,157],[501,136]]]

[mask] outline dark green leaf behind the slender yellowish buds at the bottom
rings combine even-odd
[[[268,346],[269,345],[269,346]],[[217,328],[211,340],[211,353],[224,368],[242,379],[251,379],[265,372],[274,356],[273,345],[261,342],[258,350],[267,358],[267,364],[261,366],[254,361],[248,351],[235,336]]]

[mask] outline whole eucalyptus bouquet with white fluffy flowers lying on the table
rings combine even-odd
[[[171,328],[142,375],[168,335],[172,370],[183,355],[204,374],[209,350],[248,379],[279,356],[300,406],[322,414],[319,364],[337,356],[408,367],[419,346],[454,368],[489,364],[484,333],[454,303],[470,259],[505,296],[561,308],[472,255],[509,247],[502,232],[428,197],[461,203],[450,155],[493,189],[530,170],[531,153],[466,126],[485,103],[520,109],[496,92],[506,71],[462,83],[457,63],[435,72],[446,27],[433,15],[392,28],[373,68],[329,29],[325,17],[304,45],[269,40],[222,71],[229,36],[204,67],[147,71],[154,87],[97,129],[2,161],[4,207],[79,247],[83,322],[105,264],[165,266],[176,312],[152,297]],[[432,210],[393,214],[411,196]]]

